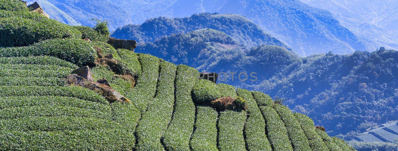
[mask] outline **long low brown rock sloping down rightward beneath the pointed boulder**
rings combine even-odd
[[[115,102],[115,101],[130,102],[129,99],[122,96],[119,92],[113,90],[110,86],[89,81],[81,76],[76,75],[76,74],[67,75],[65,77],[65,80],[71,86],[81,86],[81,87],[88,88],[90,90],[93,90],[94,92],[101,94],[110,103]],[[101,82],[105,82],[105,81],[107,82],[106,79],[101,80]]]

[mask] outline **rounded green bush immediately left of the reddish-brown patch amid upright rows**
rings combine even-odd
[[[221,97],[216,84],[206,79],[199,79],[192,88],[192,99],[196,103],[214,101]]]

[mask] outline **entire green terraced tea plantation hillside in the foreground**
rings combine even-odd
[[[20,0],[0,3],[0,37],[16,37],[0,38],[1,151],[355,150],[261,92],[198,80],[186,65],[82,40],[93,31],[29,13]],[[33,24],[43,31],[25,30]],[[64,80],[86,65],[95,81],[107,79],[106,87],[127,99]],[[221,109],[217,101],[230,104]]]

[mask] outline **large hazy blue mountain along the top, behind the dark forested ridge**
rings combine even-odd
[[[92,27],[92,18],[108,20],[111,30],[128,24],[142,24],[147,19],[159,16],[188,17],[203,12],[234,13],[247,17],[301,56],[329,51],[349,54],[355,50],[375,50],[380,47],[378,43],[368,43],[341,26],[330,12],[312,8],[299,0],[48,1],[74,16],[82,25]]]

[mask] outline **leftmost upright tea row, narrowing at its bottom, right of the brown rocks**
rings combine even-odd
[[[139,54],[138,59],[142,65],[142,75],[126,97],[143,113],[156,93],[156,77],[159,75],[160,61],[159,58],[148,54]]]

